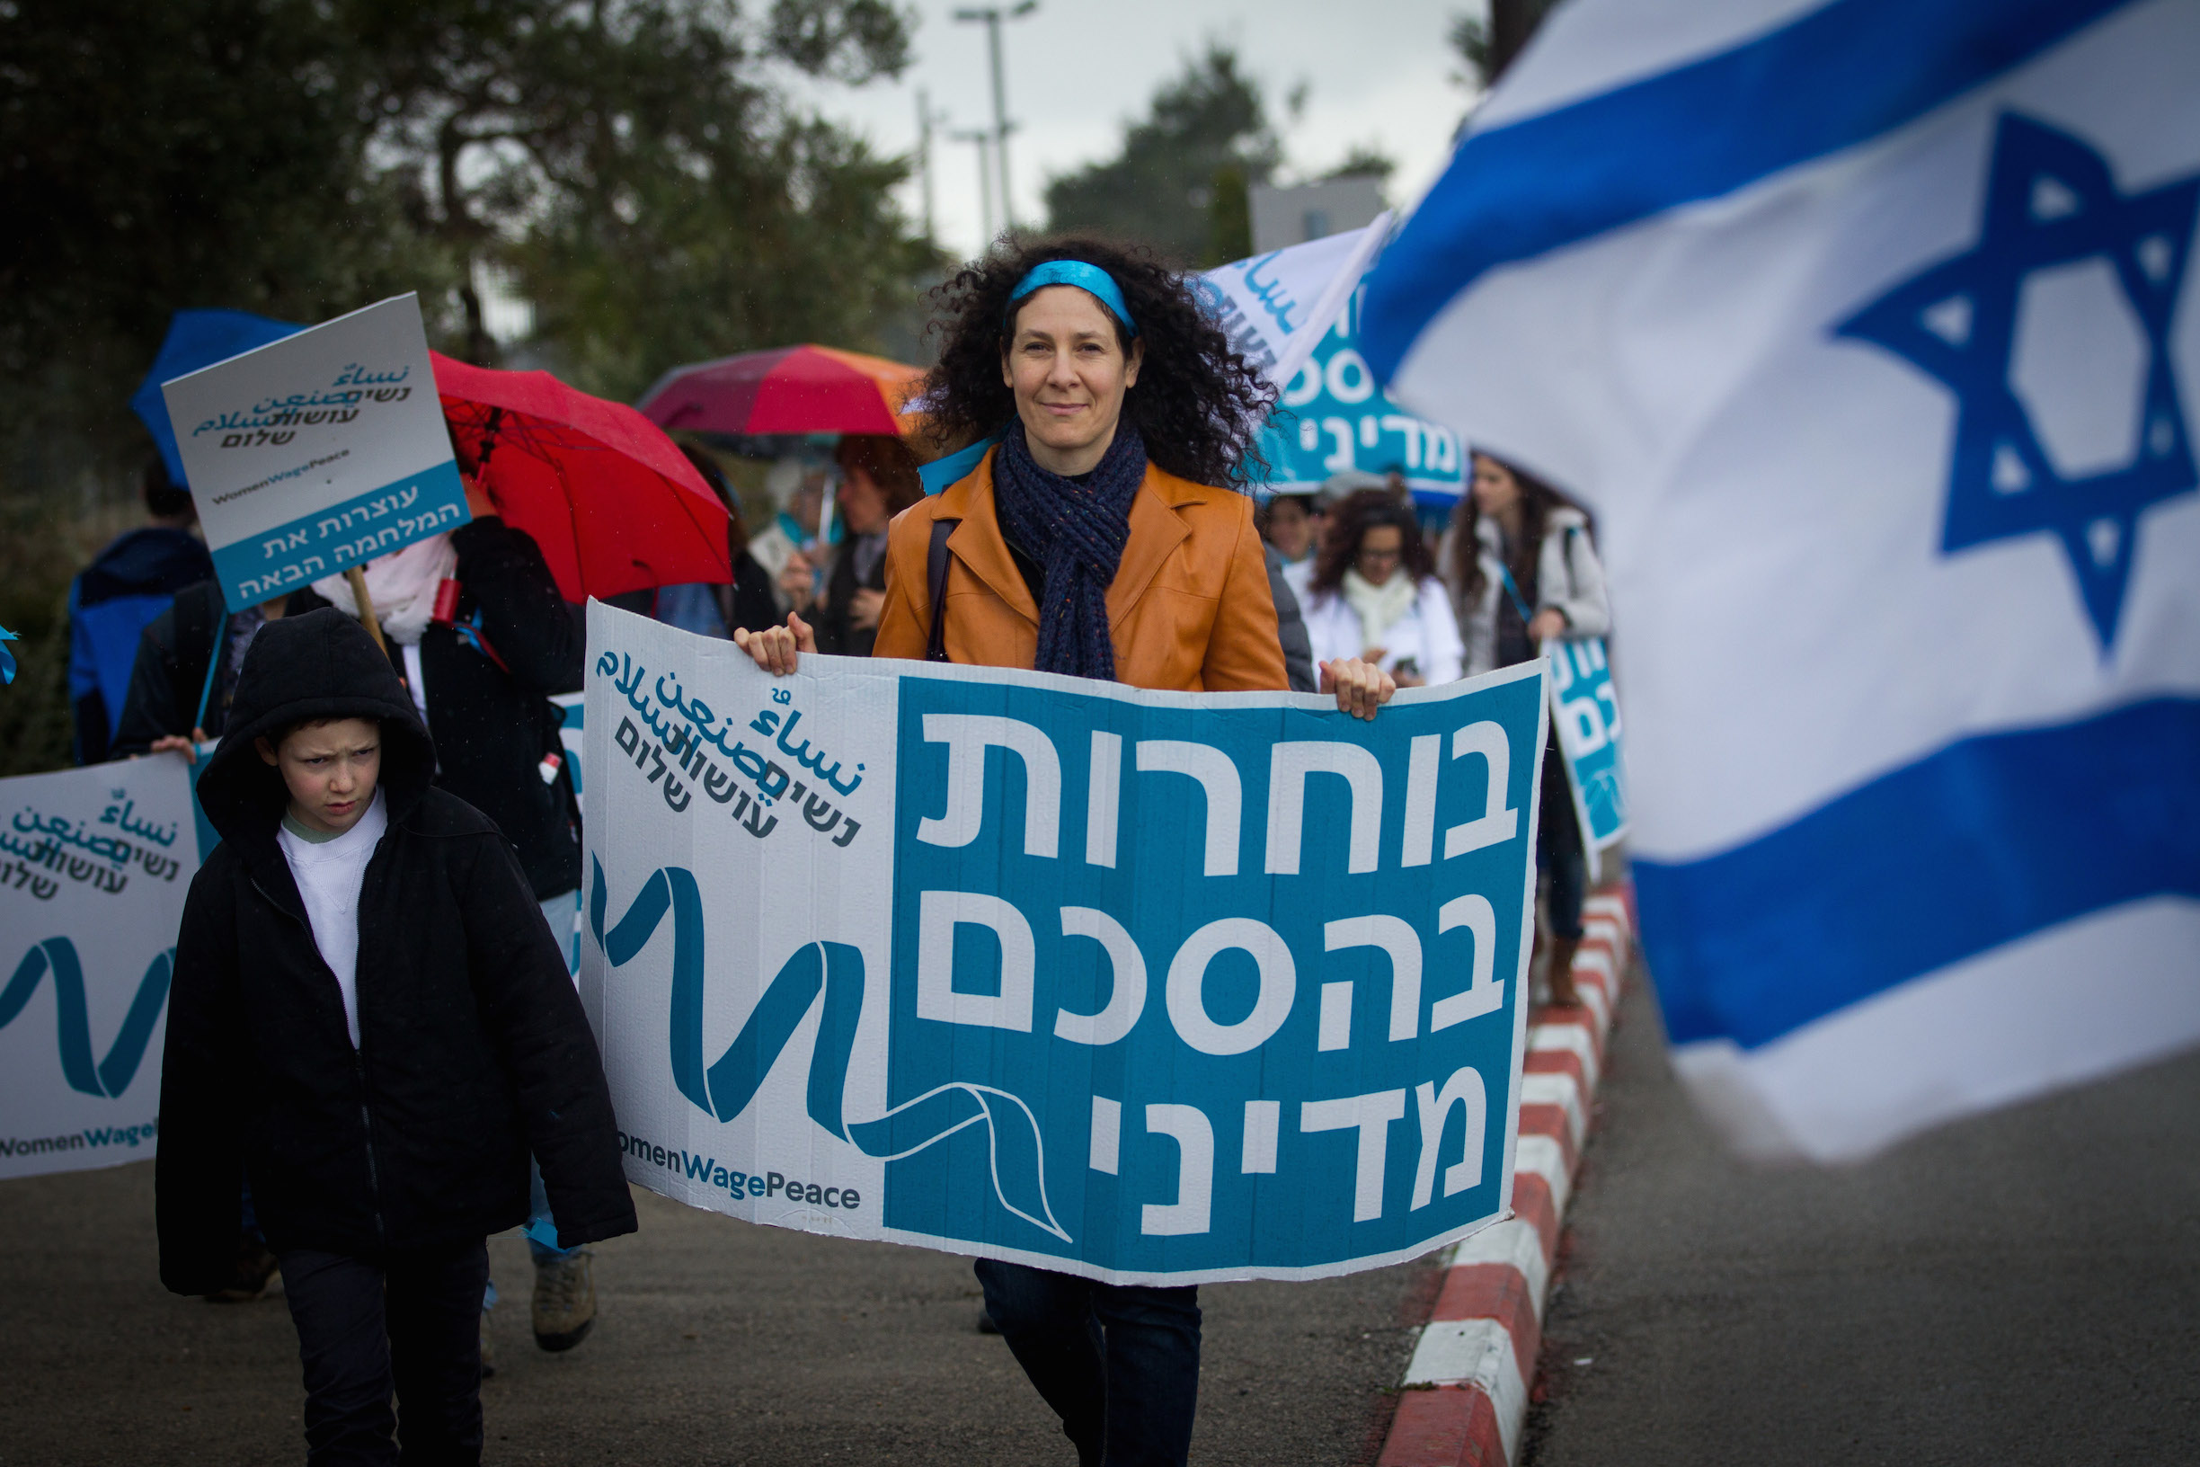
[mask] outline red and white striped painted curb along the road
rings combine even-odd
[[[1628,970],[1624,889],[1582,906],[1580,1007],[1531,1016],[1520,1076],[1514,1216],[1452,1245],[1443,1289],[1406,1366],[1379,1467],[1505,1467],[1518,1458],[1573,1168],[1588,1137],[1604,1040]]]

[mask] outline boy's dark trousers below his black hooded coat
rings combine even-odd
[[[282,1254],[282,1287],[306,1366],[310,1467],[482,1460],[486,1282],[488,1247],[480,1238],[381,1258]],[[403,1425],[389,1410],[392,1392]]]

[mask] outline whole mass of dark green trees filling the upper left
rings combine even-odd
[[[865,345],[937,262],[889,198],[904,161],[790,84],[895,75],[909,24],[891,0],[0,0],[0,625],[44,658],[0,743],[66,739],[62,587],[128,519],[128,394],[174,310],[418,290],[429,339],[486,361],[473,271],[499,262],[609,396]]]

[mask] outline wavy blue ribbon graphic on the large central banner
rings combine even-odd
[[[988,1084],[948,1082],[889,1108],[871,1122],[847,1122],[840,1113],[847,1065],[862,1016],[862,952],[849,944],[812,941],[794,950],[757,999],[741,1032],[708,1069],[702,1060],[704,928],[702,893],[684,867],[658,867],[642,882],[627,915],[605,933],[609,893],[603,862],[594,862],[587,893],[587,928],[614,968],[629,963],[656,937],[664,915],[673,919],[671,1062],[673,1084],[695,1108],[722,1122],[735,1119],[757,1098],[757,1089],[788,1047],[810,1005],[825,996],[816,1045],[810,1054],[810,1119],[867,1157],[900,1161],[935,1146],[957,1130],[983,1124],[992,1150],[992,1190],[1001,1205],[1069,1240],[1047,1203],[1047,1157],[1038,1139],[1038,1117],[1008,1091]],[[13,990],[11,990],[13,994]],[[0,999],[0,1014],[7,1012]],[[0,1021],[4,1023],[4,1021]]]

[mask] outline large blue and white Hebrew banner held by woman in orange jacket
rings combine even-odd
[[[587,935],[627,1177],[1102,1280],[1505,1214],[1542,664],[1287,693],[805,658],[590,605]]]

